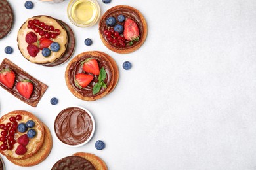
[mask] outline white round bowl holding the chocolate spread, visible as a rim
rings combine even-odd
[[[65,110],[65,109],[68,109],[68,108],[70,108],[70,107],[77,107],[77,108],[79,108],[79,109],[85,110],[85,112],[87,112],[87,114],[90,116],[91,121],[92,121],[92,123],[93,123],[93,129],[92,129],[92,131],[91,131],[91,135],[89,136],[89,138],[88,138],[86,141],[84,141],[83,143],[76,144],[76,145],[64,143],[63,141],[61,141],[61,140],[58,138],[58,135],[56,134],[56,131],[55,131],[55,122],[56,122],[56,118],[58,117],[58,115],[60,114],[60,112],[62,112],[62,111]],[[56,118],[55,118],[55,120],[54,120],[53,130],[54,130],[54,135],[55,135],[55,137],[58,139],[58,141],[60,141],[60,143],[64,144],[65,146],[77,148],[77,147],[79,147],[79,146],[83,146],[84,144],[88,143],[88,142],[91,140],[91,138],[93,137],[93,134],[95,133],[95,119],[93,118],[93,115],[91,114],[91,112],[90,112],[89,110],[85,109],[84,107],[80,107],[80,106],[77,106],[77,105],[70,106],[70,107],[66,107],[65,109],[60,110],[60,112],[58,113],[58,115],[56,116]]]

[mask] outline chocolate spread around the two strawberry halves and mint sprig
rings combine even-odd
[[[95,86],[95,84],[98,82],[98,76],[93,75],[94,76],[93,80],[85,88],[78,88],[75,85],[75,75],[77,75],[77,73],[85,73],[85,71],[83,71],[83,66],[81,65],[81,62],[87,58],[95,58],[96,61],[98,62],[98,67],[100,69],[102,67],[104,67],[104,69],[106,71],[106,75],[107,75],[104,82],[105,82],[106,86],[108,87],[108,85],[111,82],[111,78],[112,78],[112,72],[110,71],[110,65],[109,65],[108,61],[106,61],[103,58],[100,58],[98,56],[86,55],[86,56],[79,58],[78,61],[76,61],[76,62],[72,63],[72,65],[70,65],[68,77],[70,78],[70,84],[72,85],[73,88],[75,88],[75,90],[78,93],[80,93],[81,95],[83,95],[85,97],[95,97],[96,95],[102,94],[106,90],[106,88],[101,88],[100,92],[96,93],[95,95],[93,94],[93,86]],[[86,73],[86,74],[91,74],[91,73]]]

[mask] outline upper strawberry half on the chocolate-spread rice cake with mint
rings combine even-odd
[[[98,62],[94,58],[85,59],[85,61],[81,62],[81,65],[83,65],[83,71],[86,71],[87,73],[93,73],[93,75],[100,74]]]

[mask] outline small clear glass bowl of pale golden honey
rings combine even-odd
[[[77,27],[91,27],[100,18],[100,6],[96,0],[71,0],[68,19]]]

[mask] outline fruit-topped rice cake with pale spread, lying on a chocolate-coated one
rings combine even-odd
[[[29,37],[29,38],[28,38]],[[68,33],[65,27],[50,16],[34,16],[29,18],[18,31],[18,48],[24,58],[37,64],[53,63],[61,58],[68,45]],[[57,42],[60,48],[49,56],[43,55],[43,48],[50,48]]]

